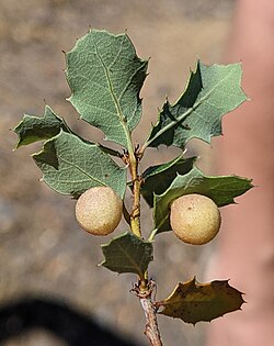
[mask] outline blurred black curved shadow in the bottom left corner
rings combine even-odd
[[[26,298],[0,306],[0,344],[35,328],[54,334],[69,346],[140,346],[58,300]]]

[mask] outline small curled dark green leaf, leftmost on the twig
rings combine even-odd
[[[71,132],[65,120],[58,116],[49,105],[45,105],[44,116],[24,114],[23,120],[13,130],[19,136],[16,148],[52,138],[60,130]]]

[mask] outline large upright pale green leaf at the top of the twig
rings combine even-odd
[[[69,101],[81,119],[128,148],[141,118],[139,92],[148,62],[137,57],[126,34],[92,30],[66,54],[66,63]]]

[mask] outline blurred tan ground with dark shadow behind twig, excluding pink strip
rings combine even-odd
[[[70,51],[91,26],[114,33],[127,30],[138,56],[151,57],[141,91],[144,119],[135,131],[142,142],[165,96],[174,102],[184,90],[196,58],[205,64],[221,62],[233,4],[232,0],[0,0],[1,346],[147,344],[142,310],[129,293],[135,278],[96,267],[102,260],[100,244],[109,238],[91,237],[79,228],[75,201],[38,181],[41,171],[30,154],[41,145],[12,152],[16,136],[10,130],[23,113],[43,115],[46,101],[72,129],[92,141],[102,139],[65,100],[70,91],[61,51]],[[191,150],[203,156],[199,165],[205,171],[214,172],[209,146],[193,143]],[[175,154],[175,149],[150,149],[141,168]],[[144,208],[146,228],[151,215]],[[122,231],[123,223],[115,234]],[[215,243],[193,248],[168,233],[159,236],[150,269],[158,298],[194,275],[203,281],[214,247]],[[159,316],[159,324],[165,345],[204,345],[204,323],[193,327]],[[85,325],[81,334],[94,339],[77,339],[80,325]],[[103,330],[110,339],[100,342],[98,336],[96,344],[95,331],[103,335]]]

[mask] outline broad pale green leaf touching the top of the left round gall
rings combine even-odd
[[[60,131],[34,154],[44,180],[53,190],[78,198],[85,190],[109,186],[124,197],[126,169],[121,168],[98,145]]]

